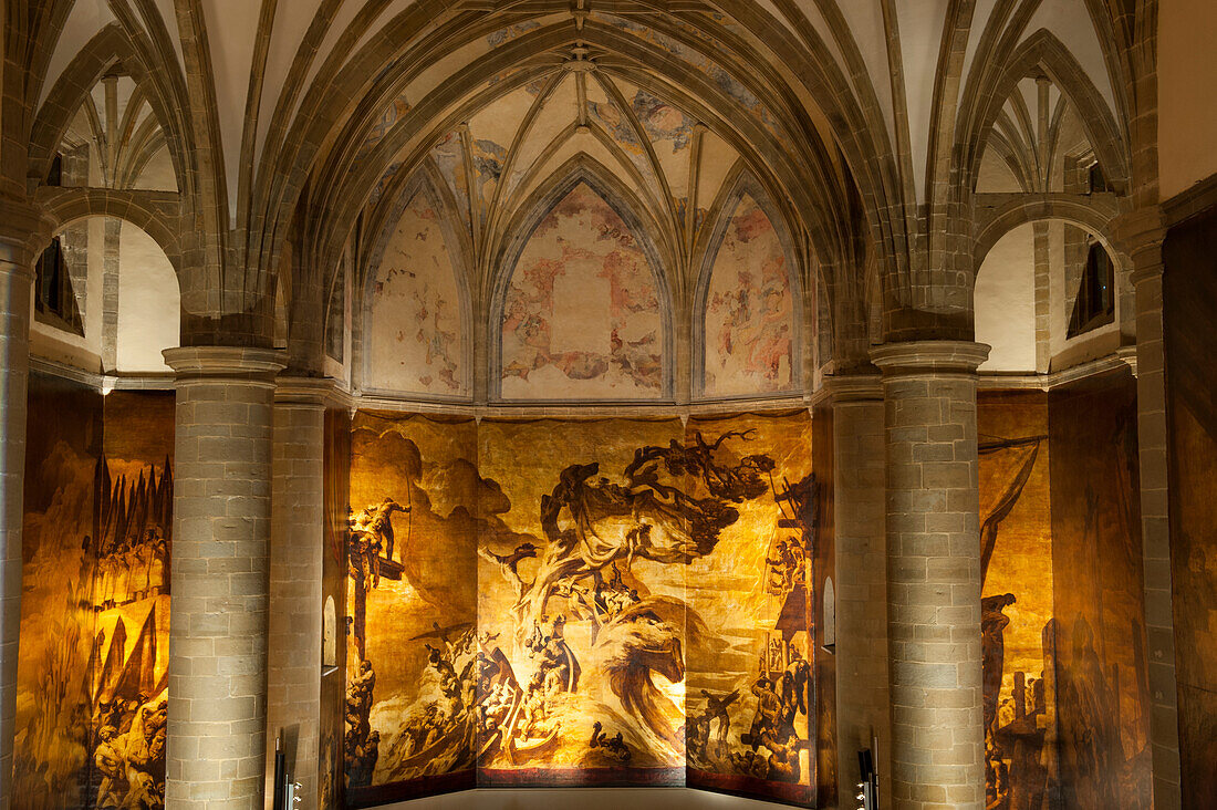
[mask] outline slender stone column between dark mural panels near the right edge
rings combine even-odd
[[[1149,650],[1150,747],[1154,808],[1182,806],[1179,706],[1174,672],[1174,608],[1171,576],[1170,423],[1166,413],[1166,346],[1162,331],[1162,241],[1156,206],[1116,220],[1132,259],[1137,291],[1137,436],[1140,463],[1142,558]]]

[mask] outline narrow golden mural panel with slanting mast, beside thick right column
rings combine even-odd
[[[981,393],[981,655],[986,806],[1044,806],[1056,766],[1048,398]]]

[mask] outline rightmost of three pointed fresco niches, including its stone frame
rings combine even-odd
[[[801,384],[797,253],[759,185],[740,175],[719,199],[697,285],[696,392],[783,393]]]

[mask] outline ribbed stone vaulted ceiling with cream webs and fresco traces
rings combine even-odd
[[[692,250],[688,223],[739,167],[796,234],[808,287],[819,273],[834,317],[858,320],[880,287],[892,308],[935,283],[932,257],[949,253],[987,150],[1026,174],[1016,164],[1037,153],[1039,86],[1048,132],[1053,107],[1071,107],[1112,189],[1129,190],[1137,80],[1152,65],[1132,48],[1139,5],[15,0],[6,58],[24,69],[27,106],[5,116],[5,188],[43,183],[82,128],[82,102],[123,76],[159,129],[139,149],[163,139],[192,225],[184,309],[214,318],[265,309],[290,238],[293,289],[329,289],[357,224],[424,164],[462,174],[453,188],[467,195],[481,285],[503,225],[576,153],[671,223],[678,257]],[[493,183],[477,171],[490,164]],[[217,285],[218,297],[190,289]]]

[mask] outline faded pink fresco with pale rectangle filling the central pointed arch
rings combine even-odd
[[[663,393],[663,325],[646,253],[585,183],[529,236],[503,305],[503,397]]]

